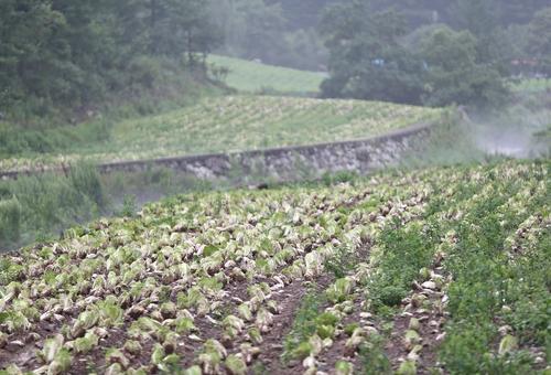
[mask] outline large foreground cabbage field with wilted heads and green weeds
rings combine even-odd
[[[0,366],[544,373],[550,168],[182,195],[66,231],[0,258]]]

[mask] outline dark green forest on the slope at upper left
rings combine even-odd
[[[0,110],[19,119],[139,96],[220,38],[198,0],[6,0],[0,35]]]

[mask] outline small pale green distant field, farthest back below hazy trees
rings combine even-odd
[[[288,94],[315,94],[325,73],[305,72],[258,62],[209,55],[208,63],[227,67],[226,84],[244,93],[272,90]]]

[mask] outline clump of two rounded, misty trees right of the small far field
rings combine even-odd
[[[487,35],[477,23],[469,26]],[[328,8],[321,26],[331,52],[324,95],[433,106],[503,101],[507,90],[495,43],[439,26],[408,47],[401,39],[406,31],[404,18],[395,11],[376,12],[363,2]]]

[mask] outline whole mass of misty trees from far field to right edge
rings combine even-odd
[[[551,18],[541,4],[527,7],[533,11],[525,24],[512,23],[505,2],[454,1],[453,17],[444,19],[432,4],[433,19],[418,29],[404,4],[382,6],[350,0],[325,9],[320,32],[331,77],[324,96],[488,107],[504,103],[511,75],[549,73]]]

